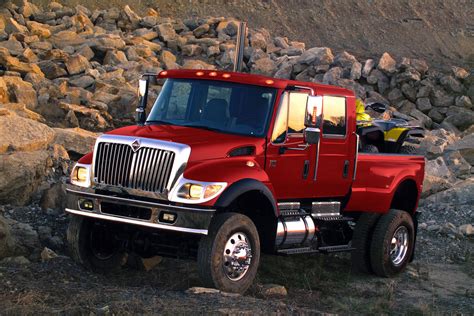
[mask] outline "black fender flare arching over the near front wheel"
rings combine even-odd
[[[257,227],[262,251],[274,250],[277,218],[272,202],[263,193],[258,190],[245,192],[222,211],[248,216]]]

